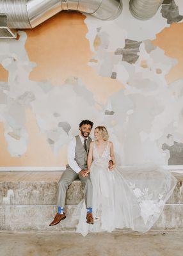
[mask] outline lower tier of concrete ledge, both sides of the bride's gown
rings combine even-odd
[[[49,227],[56,212],[52,205],[1,205],[1,230],[6,231],[53,231],[75,230],[77,220],[72,214],[76,206],[66,207],[67,218],[60,224]],[[165,205],[164,212],[153,230],[183,228],[183,205]]]

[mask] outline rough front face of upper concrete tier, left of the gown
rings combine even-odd
[[[0,182],[0,204],[56,204],[58,182]],[[66,204],[79,204],[83,198],[80,180],[68,188]]]

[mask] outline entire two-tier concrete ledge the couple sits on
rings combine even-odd
[[[76,205],[83,198],[80,180],[68,188],[67,218],[49,227],[56,212],[56,189],[62,172],[0,172],[0,230],[74,230]],[[183,174],[174,173],[177,186],[154,229],[183,228]]]

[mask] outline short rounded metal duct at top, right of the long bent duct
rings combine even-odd
[[[152,18],[164,0],[131,0],[129,8],[132,15],[139,20]]]

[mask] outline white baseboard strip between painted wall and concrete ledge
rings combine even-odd
[[[123,166],[130,167],[130,166]],[[170,172],[183,173],[183,165],[163,165],[162,168],[170,170]],[[0,167],[0,172],[63,172],[65,166],[10,166],[10,167]]]

